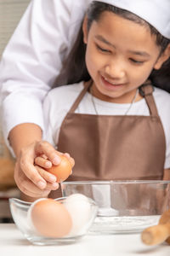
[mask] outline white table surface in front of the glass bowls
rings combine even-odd
[[[85,236],[70,245],[35,246],[20,233],[14,224],[0,224],[1,256],[169,256],[166,243],[148,247],[140,241],[140,234]]]

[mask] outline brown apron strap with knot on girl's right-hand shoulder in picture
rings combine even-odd
[[[139,93],[144,96],[144,99],[148,105],[151,116],[159,116],[156,108],[156,102],[153,96],[154,87],[152,86],[150,80],[147,80],[142,86],[139,87]]]

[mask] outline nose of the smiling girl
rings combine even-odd
[[[112,79],[123,79],[125,76],[124,69],[116,63],[107,64],[105,66],[105,73]]]

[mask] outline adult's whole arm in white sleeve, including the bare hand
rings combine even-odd
[[[3,134],[17,156],[15,181],[30,196],[28,200],[56,189],[54,178],[48,172],[37,172],[34,166],[40,151],[57,164],[54,148],[40,143],[35,149],[43,131],[42,101],[59,74],[91,1],[32,0],[3,53]]]

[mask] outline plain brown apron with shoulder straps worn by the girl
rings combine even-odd
[[[150,116],[75,113],[89,86],[60,128],[58,150],[76,162],[68,181],[162,179],[166,142],[153,87],[146,83],[139,90]]]

